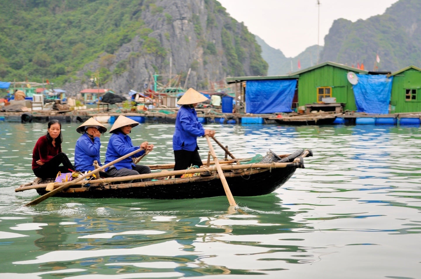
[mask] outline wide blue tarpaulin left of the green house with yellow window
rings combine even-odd
[[[245,88],[246,113],[291,112],[296,79],[248,80]]]

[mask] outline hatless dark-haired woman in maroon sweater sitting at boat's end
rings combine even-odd
[[[59,171],[66,173],[75,170],[67,155],[61,152],[62,140],[60,121],[50,120],[47,134],[37,140],[32,152],[32,171],[35,176],[55,178]]]

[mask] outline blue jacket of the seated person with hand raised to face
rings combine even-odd
[[[78,171],[93,171],[95,167],[92,164],[95,160],[102,166],[99,159],[100,147],[99,137],[94,137],[92,142],[88,134],[81,135],[75,146],[75,169]]]

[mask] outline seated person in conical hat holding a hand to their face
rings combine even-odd
[[[81,172],[93,171],[95,169],[93,161],[98,161],[98,165],[102,166],[99,158],[99,149],[101,148],[99,138],[101,134],[107,132],[107,128],[91,117],[77,127],[76,131],[82,134],[75,145],[76,170]],[[104,176],[104,174],[100,172],[100,176]]]

